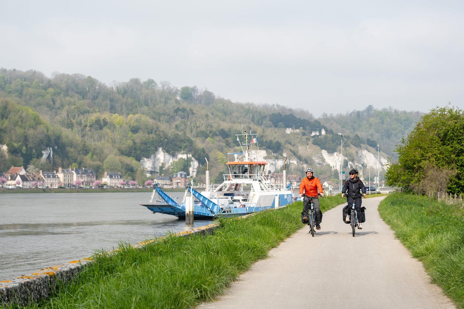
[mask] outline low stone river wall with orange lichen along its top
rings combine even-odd
[[[172,234],[172,236],[188,237],[193,234],[213,234],[214,230],[218,227],[218,223],[213,223],[203,227],[175,233]],[[145,246],[153,242],[164,241],[166,238],[167,236],[164,236],[154,240],[143,241],[133,247],[143,250]],[[117,254],[117,250],[112,252]],[[80,271],[82,271],[85,265],[89,263],[92,263],[91,258],[80,259],[67,262],[63,265],[48,267],[24,276],[15,277],[11,280],[0,281],[0,305],[8,305],[12,303],[26,305],[35,303],[40,299],[48,298],[52,291],[56,289],[58,282],[70,282]]]

